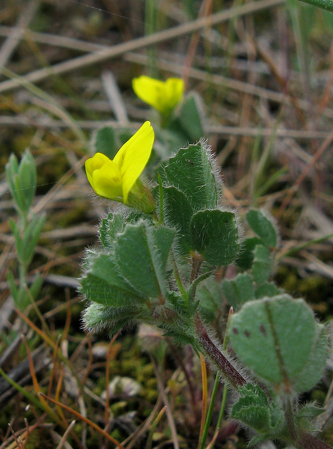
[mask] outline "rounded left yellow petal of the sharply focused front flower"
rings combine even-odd
[[[102,153],[85,163],[88,181],[97,195],[111,200],[122,198],[122,180],[116,164]]]

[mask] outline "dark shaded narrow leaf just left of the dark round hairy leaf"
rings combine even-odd
[[[181,251],[189,253],[193,249],[189,234],[189,223],[193,215],[191,205],[175,187],[163,187],[163,206],[166,224],[176,228]]]

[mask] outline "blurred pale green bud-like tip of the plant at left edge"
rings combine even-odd
[[[16,209],[18,212],[28,212],[37,187],[37,170],[30,151],[24,151],[19,164],[16,156],[11,154],[5,172]]]

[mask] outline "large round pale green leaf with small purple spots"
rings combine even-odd
[[[257,376],[275,387],[286,384],[300,391],[304,370],[309,363],[317,366],[312,357],[319,328],[303,299],[282,294],[244,304],[230,318],[229,337],[237,357]],[[317,369],[321,372],[321,362]],[[307,386],[318,379],[317,373],[309,376],[313,382],[309,379]]]

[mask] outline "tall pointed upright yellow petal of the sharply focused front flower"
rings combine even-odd
[[[149,161],[154,143],[154,130],[149,121],[145,122],[142,127],[127,141],[119,150],[115,157],[118,161],[114,162],[119,167],[119,160],[122,159],[120,173],[123,185],[124,203],[127,203],[128,194],[135,182],[143,172]]]

